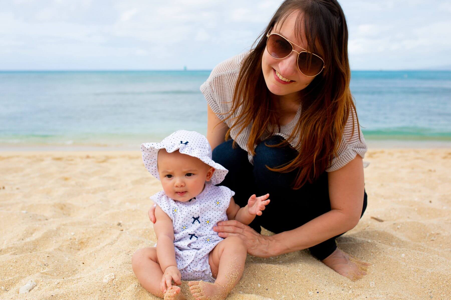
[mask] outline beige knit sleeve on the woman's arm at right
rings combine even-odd
[[[357,154],[362,158],[365,157],[365,152],[367,152],[368,147],[365,143],[362,130],[357,127],[357,115],[354,108],[352,108],[352,114],[354,115],[354,127],[352,115],[349,114],[337,156],[332,159],[331,165],[326,169],[326,172],[340,169],[342,166],[345,166],[348,162],[352,161]]]

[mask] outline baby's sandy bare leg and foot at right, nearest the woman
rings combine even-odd
[[[246,254],[246,245],[239,237],[227,237],[217,244],[208,255],[208,263],[216,281],[214,284],[202,281],[188,282],[194,299],[226,299],[243,275]]]

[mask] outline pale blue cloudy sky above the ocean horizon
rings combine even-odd
[[[451,70],[451,1],[341,0],[352,70]],[[280,0],[0,0],[0,70],[211,70]]]

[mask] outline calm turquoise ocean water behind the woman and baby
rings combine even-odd
[[[3,145],[135,145],[205,134],[210,71],[0,72]],[[365,139],[451,141],[451,71],[354,71]]]

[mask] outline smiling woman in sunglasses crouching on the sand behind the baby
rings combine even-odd
[[[215,231],[242,238],[259,257],[308,248],[355,280],[368,264],[335,243],[367,204],[367,146],[349,88],[347,43],[336,0],[286,0],[256,46],[218,64],[200,89],[213,160],[229,170],[222,184],[240,206],[254,193],[271,198],[249,226],[225,221]],[[263,236],[260,226],[276,234]]]

